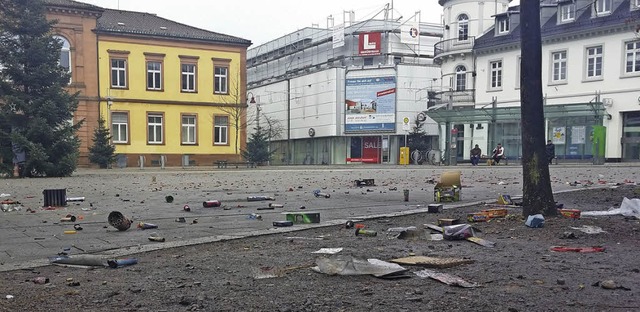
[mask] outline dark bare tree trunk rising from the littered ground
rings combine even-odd
[[[545,154],[540,1],[520,2],[523,215],[557,215]]]

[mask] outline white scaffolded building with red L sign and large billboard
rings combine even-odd
[[[346,12],[344,24],[330,18],[247,52],[249,131],[277,132],[272,164],[398,163],[406,129],[440,86],[442,25],[390,12],[359,22]],[[423,129],[439,144],[435,122]]]

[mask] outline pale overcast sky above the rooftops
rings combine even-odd
[[[317,24],[343,22],[343,11],[355,11],[356,21],[380,12],[390,0],[76,0],[104,8],[155,13],[170,20],[251,40],[256,45]],[[395,0],[393,17],[407,20],[416,11],[421,21],[440,23],[437,0]],[[382,18],[383,15],[378,15]]]

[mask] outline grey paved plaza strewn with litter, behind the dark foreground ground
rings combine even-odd
[[[639,169],[640,164],[561,164],[551,166],[550,172],[553,191],[562,192],[635,182],[640,179]],[[65,248],[72,254],[123,256],[341,224],[346,220],[422,212],[434,202],[433,182],[449,170],[461,171],[462,198],[460,202],[445,203],[445,209],[495,201],[500,194],[517,197],[522,193],[522,168],[518,165],[127,168],[79,170],[69,178],[5,179],[0,193],[10,196],[3,199],[17,200],[23,208],[0,212],[0,271],[45,265],[48,257]],[[354,181],[360,179],[374,179],[375,186],[355,186]],[[85,201],[47,210],[43,208],[43,190],[51,189],[66,189],[67,197],[84,197]],[[408,202],[404,201],[405,189],[410,192]],[[314,190],[331,197],[315,197]],[[248,196],[254,195],[275,200],[247,201]],[[166,196],[172,196],[173,202],[168,203]],[[206,200],[219,200],[222,207],[204,208],[202,203]],[[284,207],[259,210],[269,203]],[[191,211],[184,211],[184,205],[189,205]],[[132,219],[131,228],[121,232],[109,226],[107,216],[112,211]],[[318,212],[321,223],[273,227],[273,221],[285,219],[284,212]],[[249,216],[254,213],[260,214],[262,220],[251,219]],[[67,215],[75,216],[76,222],[62,222]],[[181,217],[185,222],[176,222]],[[136,228],[138,222],[158,228],[140,230]],[[75,224],[82,230],[65,234]],[[151,233],[164,237],[166,242],[149,241]]]

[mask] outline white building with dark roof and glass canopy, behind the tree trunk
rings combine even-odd
[[[521,156],[520,8],[439,0],[440,104],[426,114],[469,159],[479,144]],[[546,133],[562,161],[640,160],[640,0],[541,1]]]

